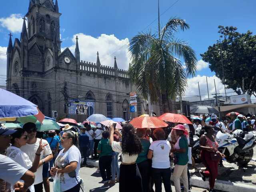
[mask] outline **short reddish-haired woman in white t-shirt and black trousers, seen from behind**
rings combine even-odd
[[[170,142],[165,140],[162,128],[155,129],[153,135],[157,140],[149,147],[148,159],[152,159],[152,177],[156,192],[162,191],[162,180],[165,191],[171,192]]]

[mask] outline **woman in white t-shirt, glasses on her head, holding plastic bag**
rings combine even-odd
[[[61,145],[64,147],[55,160],[55,167],[51,168],[50,174],[60,174],[60,189],[62,192],[79,192],[82,180],[80,178],[81,154],[77,144],[75,132],[64,132]]]

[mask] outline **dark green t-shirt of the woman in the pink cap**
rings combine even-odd
[[[179,146],[180,148],[185,148],[186,152],[185,153],[175,153],[178,162],[176,163],[177,165],[186,165],[188,163],[188,140],[186,136],[182,135],[180,140],[179,140]]]

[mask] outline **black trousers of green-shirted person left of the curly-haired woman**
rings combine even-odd
[[[112,156],[102,156],[99,159],[100,175],[103,181],[111,180]]]

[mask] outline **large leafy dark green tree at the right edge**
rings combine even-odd
[[[237,94],[256,92],[256,36],[237,32],[233,26],[218,26],[220,39],[201,54],[211,71]],[[223,68],[222,68],[223,64]],[[224,73],[224,76],[223,76]]]

